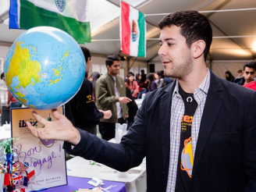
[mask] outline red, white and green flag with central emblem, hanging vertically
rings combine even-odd
[[[121,2],[121,50],[126,55],[146,57],[146,23],[144,14]]]

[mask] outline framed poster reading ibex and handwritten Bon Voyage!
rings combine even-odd
[[[29,180],[27,190],[42,190],[67,184],[66,156],[62,149],[63,141],[41,140],[34,137],[27,128],[29,121],[35,127],[43,127],[34,118],[31,108],[12,108],[11,126],[14,161],[27,162],[34,169],[34,176]],[[63,114],[63,108],[58,108]],[[48,121],[55,121],[52,110],[37,110]],[[27,191],[26,190],[26,191]]]

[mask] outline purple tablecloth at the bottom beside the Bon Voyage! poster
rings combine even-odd
[[[63,185],[60,187],[52,187],[44,191],[45,192],[59,192],[59,191],[69,192],[72,190],[78,190],[79,188],[81,189],[93,188],[93,186],[87,183],[89,180],[91,179],[80,178],[76,176],[68,176],[68,185]],[[116,187],[112,187],[111,189],[109,189],[109,191],[111,192],[126,192],[126,187],[124,183],[105,181],[105,180],[103,181],[103,183],[105,183],[105,185],[102,186],[103,188],[109,187],[111,185],[113,186],[116,185]]]

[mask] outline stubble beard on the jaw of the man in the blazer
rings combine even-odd
[[[194,69],[193,61],[190,55],[190,50],[188,49],[185,57],[180,63],[172,62],[172,69],[166,69],[165,67],[165,76],[169,76],[172,78],[183,79],[192,73]]]

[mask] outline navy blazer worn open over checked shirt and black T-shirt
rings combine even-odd
[[[172,92],[176,81],[146,95],[137,118],[121,144],[80,130],[73,155],[101,162],[119,171],[147,159],[149,192],[167,187]],[[193,192],[256,191],[256,91],[221,80],[211,72],[194,155]]]

